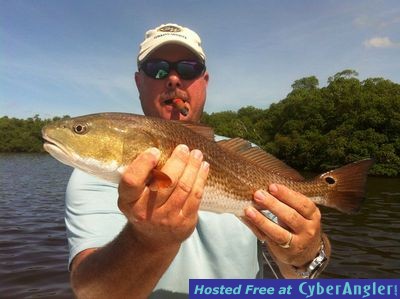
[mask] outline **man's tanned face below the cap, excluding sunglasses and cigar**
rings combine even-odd
[[[165,45],[158,48],[146,59],[163,59],[169,62],[197,60],[197,56],[180,45]],[[136,86],[145,115],[164,119],[200,121],[206,100],[208,73],[204,72],[193,80],[184,80],[175,70],[164,79],[157,80],[147,76],[143,70],[135,73]],[[173,107],[168,100],[183,98],[189,108],[187,116]],[[167,101],[167,102],[166,102]]]

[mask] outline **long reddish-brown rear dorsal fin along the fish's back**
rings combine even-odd
[[[233,138],[218,141],[218,145],[225,150],[235,152],[243,158],[256,164],[267,171],[291,178],[296,181],[303,181],[304,177],[295,169],[275,158],[273,155],[263,151],[259,147],[253,147],[251,143],[242,138]]]

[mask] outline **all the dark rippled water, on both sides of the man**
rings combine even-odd
[[[0,297],[72,298],[64,192],[48,155],[0,155]],[[324,278],[400,277],[400,179],[370,178],[357,215],[322,209],[333,253]]]

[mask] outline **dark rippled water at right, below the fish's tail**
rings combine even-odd
[[[400,179],[369,178],[360,213],[322,210],[332,262],[321,277],[400,278]]]

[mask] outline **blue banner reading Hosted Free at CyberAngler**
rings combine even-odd
[[[388,299],[399,297],[400,279],[191,279],[190,299]]]

